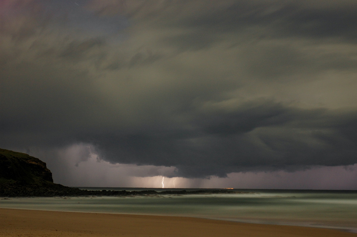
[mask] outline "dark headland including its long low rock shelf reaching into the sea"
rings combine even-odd
[[[25,153],[0,149],[0,197],[54,196],[130,196],[130,195],[186,195],[233,194],[233,190],[198,191],[116,191],[82,190],[55,184],[46,163]]]

